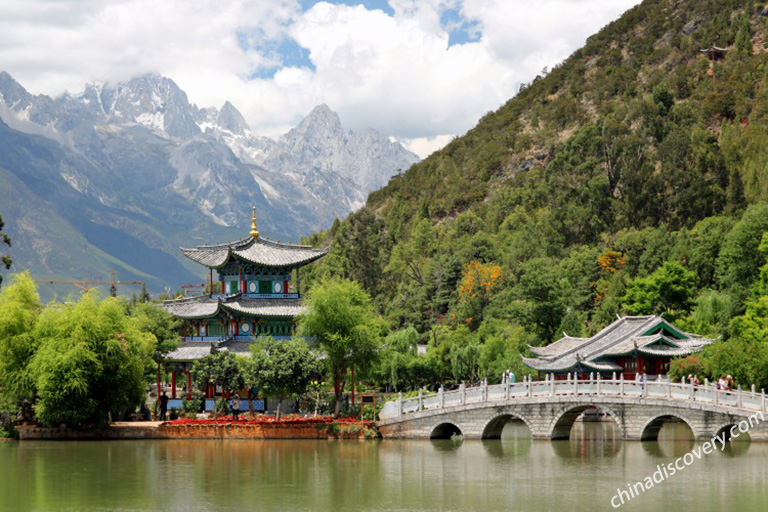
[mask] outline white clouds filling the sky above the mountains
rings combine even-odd
[[[3,0],[0,69],[50,95],[161,73],[200,106],[230,100],[266,134],[326,103],[346,126],[371,126],[425,155],[638,0],[389,3],[394,16],[324,2],[302,13],[296,0]],[[478,41],[448,47],[440,16],[449,8],[476,23]],[[286,37],[315,69],[249,78],[274,65],[260,40]]]

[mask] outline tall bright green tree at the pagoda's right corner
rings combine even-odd
[[[299,316],[299,332],[314,339],[328,358],[336,397],[336,416],[341,412],[343,378],[347,368],[364,372],[377,358],[383,329],[371,306],[370,296],[354,281],[329,278],[306,296],[306,311]]]

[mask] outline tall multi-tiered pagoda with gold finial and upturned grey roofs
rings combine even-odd
[[[172,375],[169,409],[181,406],[176,396],[177,376],[183,377],[189,396],[189,368],[195,360],[220,350],[249,354],[254,336],[284,339],[295,334],[295,317],[304,310],[299,269],[324,256],[327,250],[260,237],[255,207],[251,221],[247,238],[181,249],[184,256],[208,267],[210,289],[199,297],[162,304],[181,319],[184,330],[179,348],[166,356],[166,368]],[[158,371],[158,387],[159,381]],[[207,394],[212,398],[213,390],[207,390]]]

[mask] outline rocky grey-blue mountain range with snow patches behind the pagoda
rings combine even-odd
[[[50,98],[0,72],[0,214],[12,270],[42,277],[118,266],[155,289],[189,282],[200,269],[178,246],[240,238],[251,205],[265,236],[297,241],[417,160],[373,130],[345,131],[325,105],[271,139],[230,102],[191,105],[157,75]]]

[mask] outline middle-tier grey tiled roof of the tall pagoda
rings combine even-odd
[[[186,320],[210,318],[220,311],[247,316],[294,317],[304,312],[299,299],[246,299],[242,294],[212,298],[210,295],[163,301],[170,314]]]

